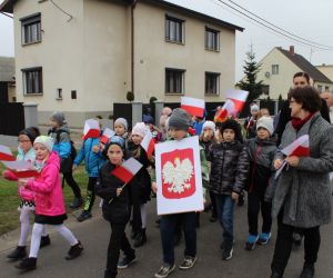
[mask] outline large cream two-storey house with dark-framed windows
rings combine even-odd
[[[233,88],[243,28],[162,0],[4,0],[13,13],[18,101],[39,121],[62,110],[71,126],[113,102],[180,96],[221,102]],[[61,8],[62,11],[59,9]],[[64,12],[65,13],[64,13]]]

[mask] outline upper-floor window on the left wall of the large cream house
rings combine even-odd
[[[41,41],[40,13],[20,19],[22,24],[22,44]]]

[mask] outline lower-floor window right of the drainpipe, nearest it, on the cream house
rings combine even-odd
[[[184,93],[185,70],[165,69],[165,93]]]

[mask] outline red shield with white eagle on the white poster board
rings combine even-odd
[[[164,198],[182,199],[195,192],[193,156],[193,149],[176,149],[161,155]]]

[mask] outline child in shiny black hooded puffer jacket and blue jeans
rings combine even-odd
[[[229,260],[233,252],[233,211],[249,172],[246,147],[241,140],[240,125],[228,119],[220,127],[223,141],[214,143],[210,151],[211,191],[214,192],[218,217],[223,228],[222,259]]]

